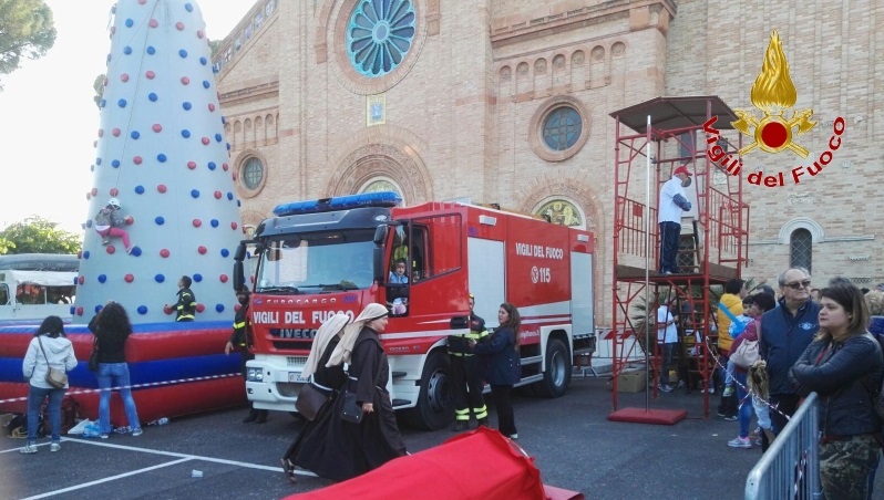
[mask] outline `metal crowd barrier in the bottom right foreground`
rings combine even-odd
[[[747,500],[812,500],[820,490],[816,393],[811,393],[746,478]]]

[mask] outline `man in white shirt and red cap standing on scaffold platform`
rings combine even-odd
[[[660,208],[657,220],[660,227],[660,274],[678,272],[678,240],[681,236],[681,212],[690,210],[685,188],[690,186],[690,171],[681,165],[672,171],[672,178],[660,188]]]

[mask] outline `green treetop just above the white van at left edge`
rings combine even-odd
[[[0,0],[2,1],[2,0]],[[0,231],[0,253],[76,253],[80,235],[58,229],[58,222],[29,217]]]

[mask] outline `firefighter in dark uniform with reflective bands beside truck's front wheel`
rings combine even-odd
[[[480,426],[489,424],[489,409],[482,397],[482,378],[475,355],[470,351],[470,340],[487,340],[485,320],[473,312],[475,298],[470,294],[470,332],[449,335],[449,357],[451,357],[451,387],[454,396],[454,425],[451,430],[470,428],[470,413]]]

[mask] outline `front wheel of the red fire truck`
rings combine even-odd
[[[421,392],[418,405],[405,414],[409,426],[439,430],[448,427],[454,418],[454,404],[448,388],[451,361],[443,351],[436,351],[426,358],[421,375]]]

